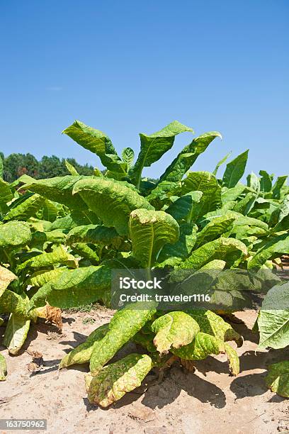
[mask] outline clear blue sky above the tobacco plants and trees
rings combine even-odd
[[[75,118],[115,148],[177,119],[223,140],[195,169],[250,149],[248,171],[288,173],[289,1],[0,1],[0,150],[98,164],[63,128]],[[158,176],[188,143],[183,135]]]

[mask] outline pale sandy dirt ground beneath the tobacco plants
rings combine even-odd
[[[33,325],[28,345],[17,357],[9,357],[0,347],[9,374],[0,383],[0,418],[46,418],[47,433],[53,434],[289,433],[288,399],[268,391],[263,382],[266,365],[285,359],[285,350],[256,353],[252,311],[237,313],[244,324],[234,325],[244,336],[244,345],[237,350],[238,377],[229,377],[224,355],[208,357],[198,362],[193,374],[173,366],[159,384],[149,375],[144,386],[106,410],[89,404],[84,387],[88,365],[58,372],[58,364],[112,313],[106,309],[64,313],[62,334],[52,325]],[[42,367],[30,372],[35,351],[42,353]]]

